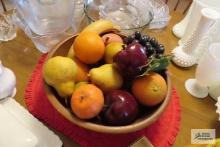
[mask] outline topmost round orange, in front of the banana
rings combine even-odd
[[[82,32],[73,44],[75,56],[86,64],[98,62],[104,55],[105,44],[95,32]]]

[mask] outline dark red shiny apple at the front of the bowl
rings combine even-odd
[[[138,115],[136,99],[127,91],[113,90],[105,96],[104,121],[109,125],[127,125]]]

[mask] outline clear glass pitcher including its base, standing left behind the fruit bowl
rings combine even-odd
[[[33,41],[36,48],[49,52],[75,32],[75,0],[13,0],[13,22]]]

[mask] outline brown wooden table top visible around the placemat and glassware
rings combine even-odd
[[[177,46],[178,38],[172,34],[172,27],[179,22],[183,15],[171,13],[172,19],[169,25],[160,31],[150,31],[150,35],[155,36],[166,47],[166,53]],[[31,73],[42,54],[34,47],[32,41],[18,30],[16,39],[8,42],[0,42],[0,59],[4,66],[11,68],[17,78],[17,94],[15,99],[25,106],[24,90],[31,76]],[[207,97],[197,99],[192,97],[184,88],[184,82],[188,78],[193,78],[195,66],[191,68],[179,68],[173,64],[169,67],[173,86],[176,87],[181,103],[181,128],[177,136],[175,147],[183,147],[190,144],[191,129],[216,129],[216,137],[220,137],[220,122],[215,113],[216,101]],[[55,131],[55,130],[54,130]],[[69,138],[55,131],[64,143],[64,147],[78,146]]]

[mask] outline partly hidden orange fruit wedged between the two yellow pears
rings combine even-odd
[[[73,58],[77,65],[77,72],[76,72],[76,77],[75,77],[75,82],[82,82],[82,81],[88,81],[89,80],[89,68],[87,67],[86,64],[82,63],[79,61],[77,58]]]

